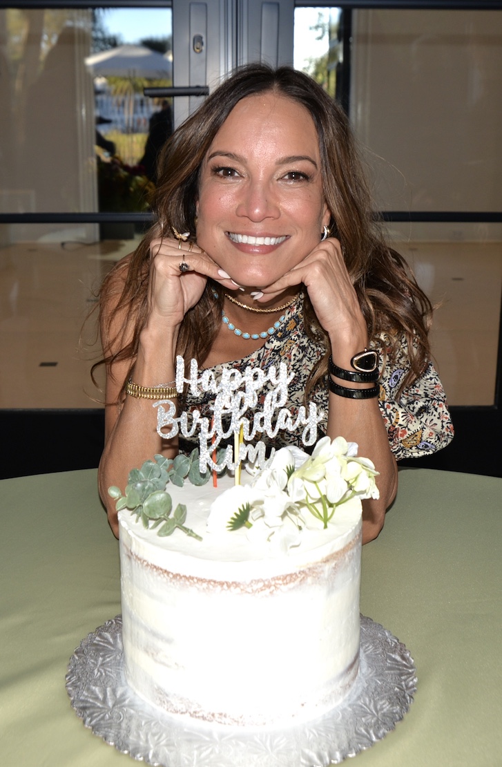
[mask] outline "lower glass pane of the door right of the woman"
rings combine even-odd
[[[393,229],[393,247],[412,266],[418,284],[438,306],[431,331],[432,354],[451,405],[493,405],[502,295],[502,242],[493,225],[483,239],[441,239],[441,224],[428,238],[405,239]],[[422,225],[423,227],[423,225]],[[409,232],[409,229],[408,229]],[[422,229],[423,232],[423,229]]]

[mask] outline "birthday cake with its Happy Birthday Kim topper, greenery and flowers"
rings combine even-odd
[[[189,423],[162,400],[157,430],[188,436],[197,426],[199,449],[133,469],[125,495],[109,489],[126,681],[163,712],[212,726],[316,719],[343,702],[359,670],[361,500],[378,497],[378,472],[343,437],[323,437],[311,455],[266,457],[261,433],[303,428],[304,445],[317,435],[315,405],[295,418],[284,408],[285,364],[218,384],[199,378],[195,360],[188,380],[184,370],[178,357],[177,390],[211,390],[215,416],[195,412]],[[265,376],[274,388],[260,410]],[[218,450],[231,433],[234,445]]]

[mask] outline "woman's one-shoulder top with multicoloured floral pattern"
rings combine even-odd
[[[243,341],[244,345],[244,341]],[[385,345],[385,341],[382,341]],[[396,459],[413,458],[434,453],[451,441],[453,438],[453,425],[448,413],[445,392],[441,386],[438,374],[434,366],[429,363],[427,369],[415,380],[411,387],[406,388],[399,398],[397,392],[399,384],[408,372],[409,363],[406,356],[407,345],[403,338],[399,347],[399,354],[391,364],[386,364],[380,371],[379,407],[382,418],[386,424],[389,435],[389,443]],[[294,370],[294,379],[289,384],[289,401],[286,403],[290,412],[296,416],[298,408],[303,404],[303,392],[307,384],[310,371],[313,370],[324,354],[323,344],[317,344],[305,334],[303,325],[303,295],[284,312],[284,321],[281,327],[273,335],[267,338],[264,346],[248,354],[241,360],[216,365],[212,368],[216,380],[221,376],[224,368],[238,368],[244,370],[251,365],[261,367],[262,370],[274,365],[278,367],[281,362],[287,363],[288,371]],[[267,394],[267,382],[258,397],[258,407],[264,403]],[[208,419],[212,417],[212,403],[214,394],[203,393],[195,398],[190,393],[185,397],[183,410],[189,413],[198,409],[201,416]],[[310,400],[317,404],[318,414],[321,416],[319,435],[326,432],[328,413],[328,385],[326,380],[313,390]],[[183,440],[180,445],[183,452],[187,452],[198,442],[191,443]],[[273,442],[266,434],[261,436],[264,443],[270,443],[277,449],[287,444],[300,443],[300,431],[290,433],[280,431]]]

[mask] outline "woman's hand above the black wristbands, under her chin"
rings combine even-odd
[[[286,288],[302,282],[317,319],[330,338],[341,340],[355,336],[355,343],[363,343],[364,347],[366,322],[337,239],[320,242],[303,261],[262,291],[269,301]],[[359,347],[356,351],[360,351]]]

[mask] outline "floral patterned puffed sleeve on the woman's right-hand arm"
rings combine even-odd
[[[399,352],[380,378],[379,406],[389,435],[392,453],[399,461],[435,453],[453,439],[453,424],[445,390],[434,365],[398,396],[399,385],[409,370],[405,337]]]

